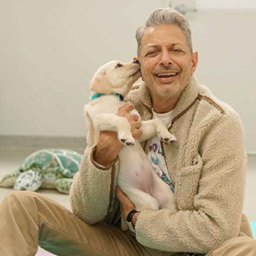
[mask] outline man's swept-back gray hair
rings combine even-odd
[[[182,29],[186,36],[186,41],[189,46],[189,50],[192,53],[192,40],[191,40],[191,30],[189,27],[189,22],[180,12],[177,12],[172,8],[160,8],[155,9],[151,12],[150,16],[145,20],[144,25],[140,26],[136,31],[136,40],[138,43],[137,55],[139,56],[141,49],[141,39],[145,32],[145,29],[151,26],[160,25],[177,25]]]

